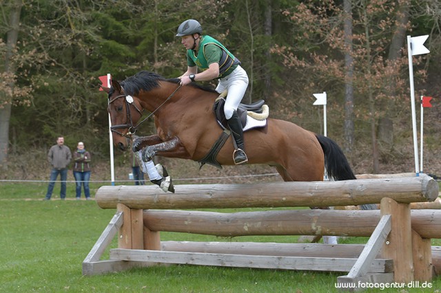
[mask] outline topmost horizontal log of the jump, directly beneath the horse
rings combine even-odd
[[[185,209],[265,208],[287,206],[354,206],[396,202],[433,202],[438,197],[433,178],[376,178],[336,182],[270,182],[259,184],[187,184],[164,193],[158,186],[101,186],[95,199],[101,208]]]

